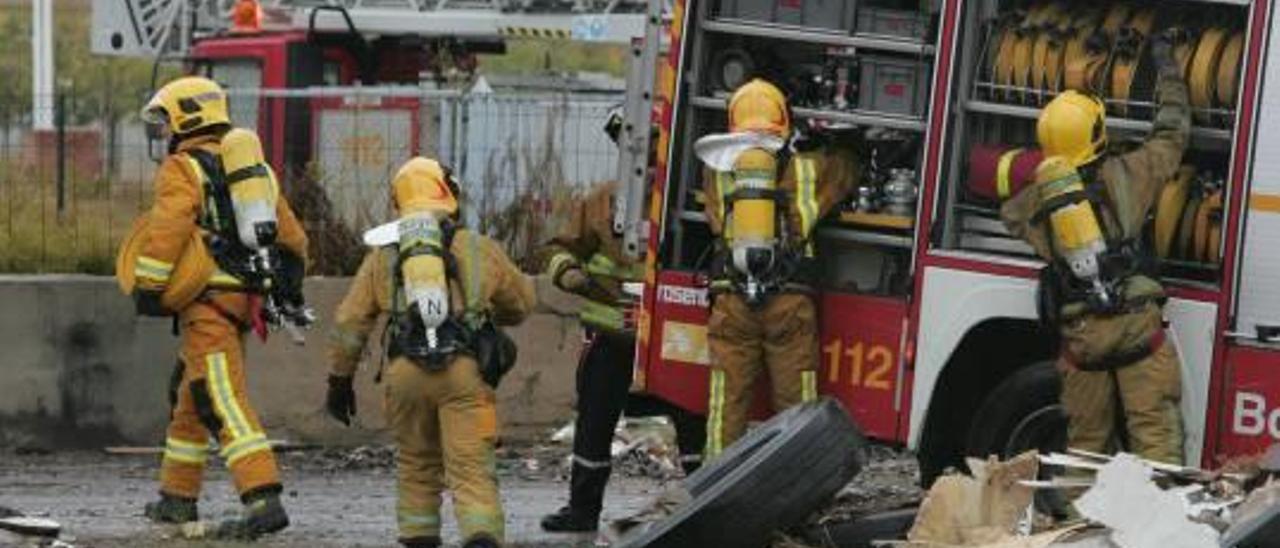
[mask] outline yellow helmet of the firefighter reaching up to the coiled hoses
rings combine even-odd
[[[1106,108],[1094,96],[1064,91],[1041,110],[1036,137],[1044,156],[1062,156],[1074,166],[1088,164],[1107,145]]]

